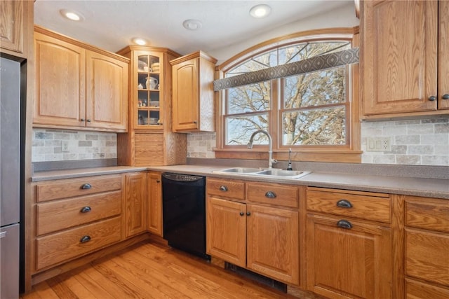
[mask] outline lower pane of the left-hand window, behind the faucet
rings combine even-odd
[[[226,145],[246,145],[256,130],[268,130],[268,113],[226,118]],[[264,134],[257,134],[253,144],[268,144]],[[264,139],[265,138],[265,139]]]

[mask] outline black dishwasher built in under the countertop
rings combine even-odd
[[[206,178],[162,174],[163,238],[168,245],[210,260],[206,254]]]

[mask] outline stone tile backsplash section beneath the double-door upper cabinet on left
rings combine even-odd
[[[32,162],[109,158],[117,158],[116,133],[33,129]]]

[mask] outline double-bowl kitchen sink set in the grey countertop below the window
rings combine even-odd
[[[259,177],[272,177],[283,179],[299,179],[310,172],[302,172],[299,170],[284,170],[279,168],[262,169],[262,168],[246,168],[246,167],[234,167],[215,171],[215,173],[221,174],[237,174],[243,176],[259,176]]]

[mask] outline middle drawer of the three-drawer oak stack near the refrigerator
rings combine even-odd
[[[121,190],[37,204],[36,235],[44,235],[121,213]]]

